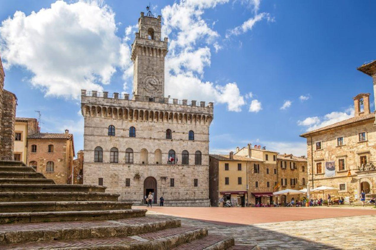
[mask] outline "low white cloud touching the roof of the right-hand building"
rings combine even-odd
[[[354,117],[354,108],[350,107],[347,108],[344,112],[331,112],[326,114],[325,116],[319,118],[315,117],[307,117],[303,121],[298,121],[298,125],[306,126],[306,131],[312,131],[321,127],[325,127],[328,125],[332,125],[335,123],[339,123],[341,121],[347,120]]]

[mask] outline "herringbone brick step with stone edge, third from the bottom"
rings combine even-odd
[[[2,250],[18,249],[95,249],[95,250],[154,250],[171,249],[181,244],[202,238],[207,229],[174,228],[128,237],[92,238],[84,240],[55,240],[36,243],[2,245]]]

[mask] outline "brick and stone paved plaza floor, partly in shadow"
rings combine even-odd
[[[232,236],[235,249],[376,249],[374,208],[153,207],[147,214]]]

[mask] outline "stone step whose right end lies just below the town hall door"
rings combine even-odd
[[[0,213],[0,224],[54,221],[117,220],[145,216],[146,211],[146,209],[125,209],[104,211]]]

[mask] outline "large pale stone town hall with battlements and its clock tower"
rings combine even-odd
[[[161,16],[141,13],[132,44],[132,95],[82,90],[84,184],[104,185],[120,200],[209,206],[209,126],[213,103],[164,97]]]

